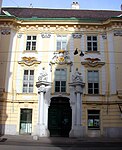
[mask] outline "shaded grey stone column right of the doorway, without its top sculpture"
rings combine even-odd
[[[72,129],[70,137],[83,137],[84,128],[82,126],[82,93],[83,93],[83,82],[72,82],[69,83],[70,89],[70,100],[73,101],[72,105]],[[71,102],[72,104],[72,102]]]

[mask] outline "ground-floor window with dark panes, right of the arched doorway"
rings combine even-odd
[[[88,110],[88,129],[100,129],[100,110]]]

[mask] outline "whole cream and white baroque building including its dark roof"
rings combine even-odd
[[[0,134],[122,137],[121,16],[2,8]]]

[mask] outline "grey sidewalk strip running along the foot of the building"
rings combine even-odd
[[[82,143],[122,143],[122,138],[103,138],[103,137],[85,137],[85,138],[68,138],[68,137],[40,137],[34,140],[28,135],[3,135],[0,137],[1,142],[18,142],[18,143],[38,143],[38,144],[82,144]]]

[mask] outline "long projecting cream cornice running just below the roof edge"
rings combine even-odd
[[[58,22],[57,22],[58,21]],[[0,24],[4,22],[11,22],[18,26],[42,26],[47,25],[62,25],[62,26],[82,26],[90,28],[91,26],[96,26],[98,28],[122,26],[122,17],[112,17],[107,20],[91,19],[91,18],[18,18],[15,16],[0,15]],[[67,27],[68,28],[68,27]]]

